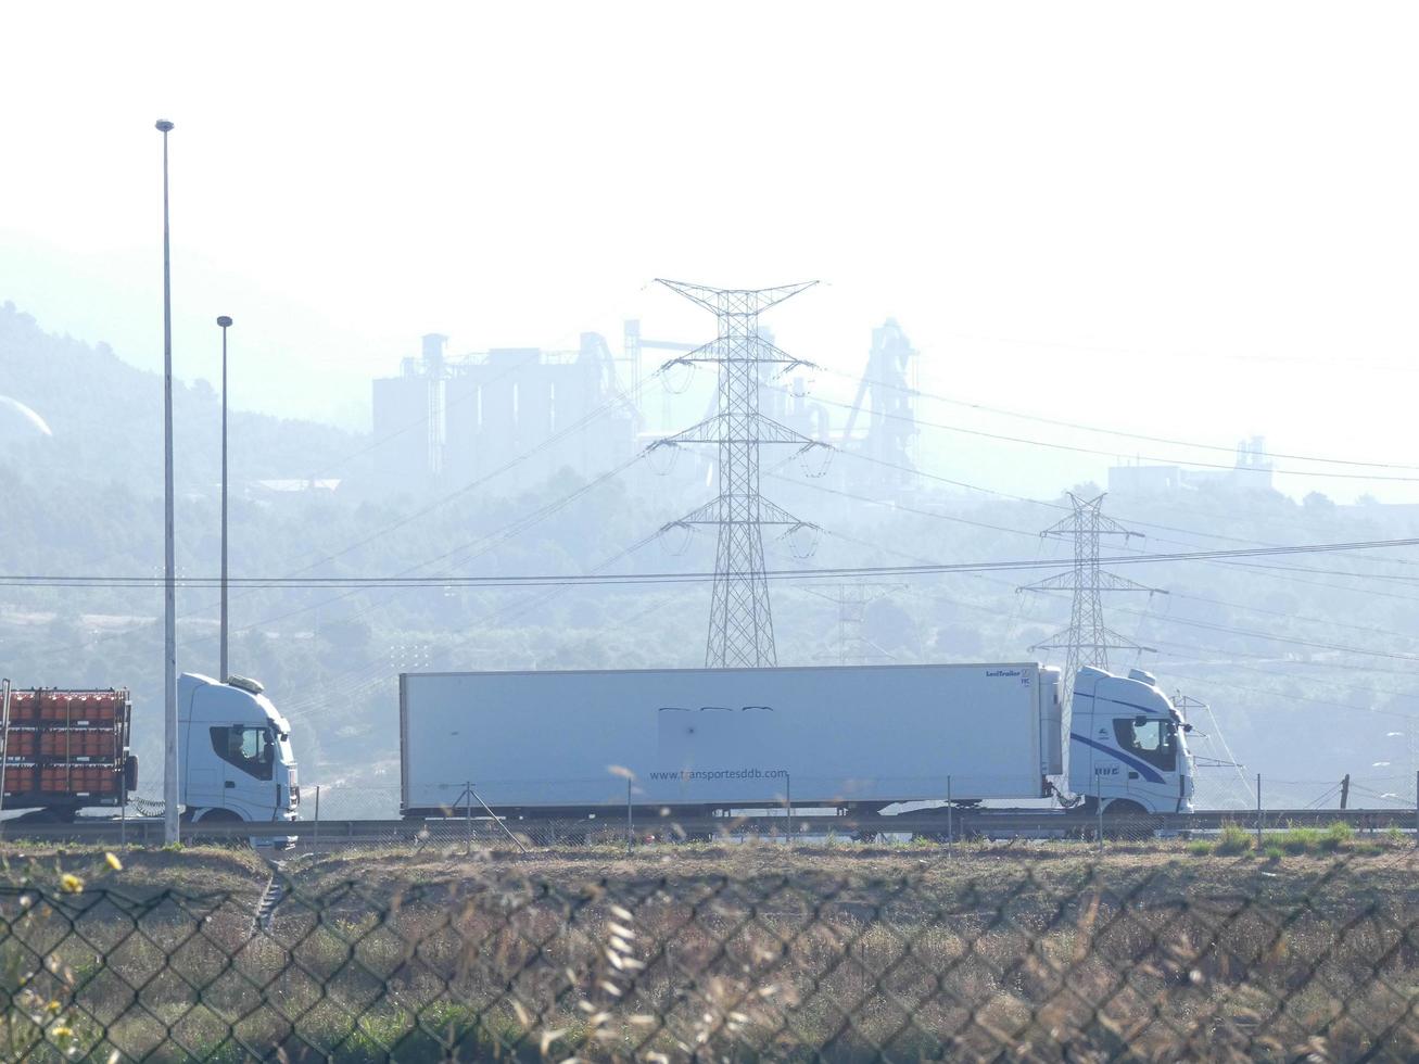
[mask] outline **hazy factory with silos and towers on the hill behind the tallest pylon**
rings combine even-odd
[[[491,489],[531,487],[563,468],[595,477],[715,409],[712,370],[697,373],[687,365],[663,380],[643,376],[647,352],[658,365],[661,353],[684,358],[698,345],[644,338],[639,321],[626,322],[619,356],[595,332],[582,333],[576,350],[494,348],[450,358],[447,345],[447,336],[430,333],[420,355],[402,362],[399,376],[373,382],[372,487],[461,488],[509,467],[515,480],[499,480]],[[897,322],[887,319],[873,329],[851,404],[817,401],[805,375],[795,373],[765,380],[759,409],[799,436],[873,462],[839,470],[840,487],[901,498],[915,488],[915,355]],[[712,465],[711,450],[687,450],[694,461]]]

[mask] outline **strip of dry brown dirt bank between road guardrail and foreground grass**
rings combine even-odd
[[[604,884],[660,885],[671,894],[717,884],[790,887],[830,897],[850,887],[858,897],[904,890],[929,898],[972,895],[982,904],[1005,897],[1060,897],[1087,888],[1162,897],[1304,899],[1347,907],[1376,902],[1419,905],[1419,853],[1412,843],[1374,841],[1324,854],[1196,855],[1181,841],[1110,844],[1104,853],[1080,843],[983,843],[945,847],[843,844],[569,847],[519,854],[511,850],[413,847],[278,855],[275,868],[241,847],[116,850],[115,870],[102,847],[0,847],[0,887],[58,884],[64,874],[85,890],[135,897],[165,890],[258,897],[272,871],[292,892],[319,897],[358,885],[372,902],[394,899],[410,885],[463,894],[477,885],[542,884],[558,891]]]

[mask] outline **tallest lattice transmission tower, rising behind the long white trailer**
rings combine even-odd
[[[704,306],[719,322],[719,335],[714,340],[666,363],[717,366],[717,413],[651,445],[654,450],[680,444],[715,444],[719,451],[719,494],[661,531],[695,526],[712,526],[717,531],[705,665],[772,667],[778,664],[778,653],[763,565],[763,528],[782,528],[783,535],[817,532],[817,528],[799,521],[759,492],[759,448],[765,444],[793,444],[800,451],[807,451],[824,444],[759,413],[759,389],[768,370],[783,373],[795,366],[812,366],[785,355],[762,336],[759,314],[817,282],[742,289],[708,288],[661,278],[657,281]]]

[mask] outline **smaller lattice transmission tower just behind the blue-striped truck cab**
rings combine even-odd
[[[1044,643],[1030,650],[1064,651],[1064,712],[1066,724],[1073,709],[1074,677],[1084,665],[1108,668],[1110,650],[1152,651],[1127,636],[1104,624],[1104,592],[1158,592],[1127,576],[1118,576],[1098,563],[1098,545],[1104,536],[1122,536],[1127,543],[1131,536],[1139,536],[1112,518],[1104,516],[1104,497],[1081,499],[1069,494],[1074,512],[1042,532],[1047,539],[1070,539],[1074,543],[1074,567],[1063,573],[1046,576],[1043,580],[1022,587],[1022,592],[1070,592],[1069,627],[1056,633]],[[1066,729],[1067,731],[1067,729]]]

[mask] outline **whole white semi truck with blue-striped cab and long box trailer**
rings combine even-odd
[[[406,817],[1192,810],[1188,725],[1137,670],[1080,670],[1069,736],[1060,672],[1034,663],[403,674],[399,719]]]

